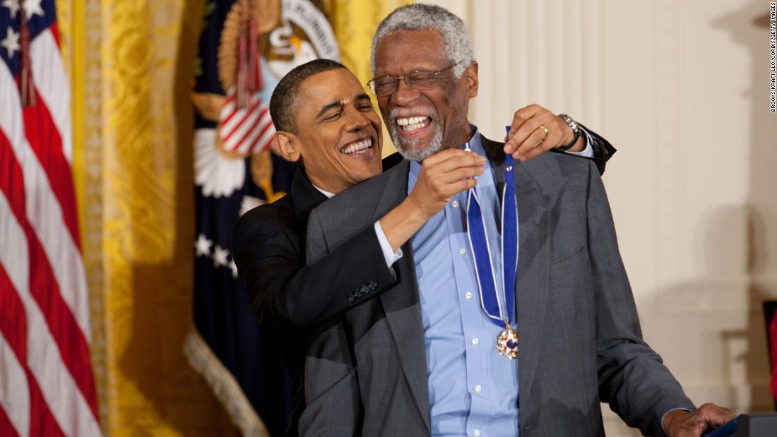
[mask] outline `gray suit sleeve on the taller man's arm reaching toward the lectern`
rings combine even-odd
[[[660,356],[643,341],[605,187],[593,163],[589,170],[588,247],[596,293],[599,396],[629,426],[644,435],[664,435],[664,413],[694,407]]]

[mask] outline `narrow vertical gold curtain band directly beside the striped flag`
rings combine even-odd
[[[103,283],[103,20],[100,0],[57,2],[62,57],[71,84],[73,182],[89,290],[89,345],[100,426],[109,435],[108,364]]]

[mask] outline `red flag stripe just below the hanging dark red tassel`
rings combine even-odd
[[[36,95],[40,92],[35,90]],[[62,153],[62,139],[54,125],[43,99],[37,99],[37,105],[23,108],[24,132],[40,165],[49,179],[51,191],[61,205],[64,224],[70,231],[75,247],[81,250],[81,238],[78,231],[78,216],[75,206],[75,190],[70,164]],[[56,220],[51,217],[52,220]]]

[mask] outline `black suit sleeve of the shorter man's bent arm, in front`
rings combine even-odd
[[[322,328],[395,283],[373,227],[307,266],[290,232],[257,218],[235,225],[235,263],[263,328]]]

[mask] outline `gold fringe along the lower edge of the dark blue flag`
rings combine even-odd
[[[194,328],[186,335],[183,355],[186,355],[189,364],[203,376],[242,435],[270,437],[270,432],[256,414],[235,376],[221,363]]]

